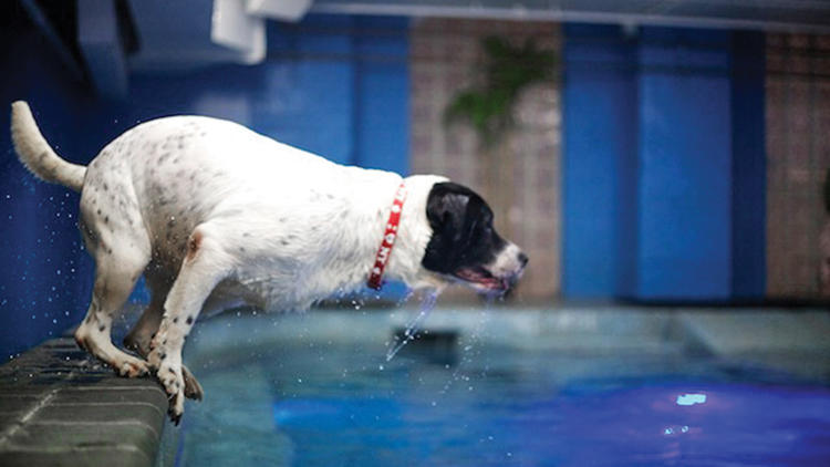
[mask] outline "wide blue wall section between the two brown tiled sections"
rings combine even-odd
[[[569,24],[563,53],[566,297],[761,299],[762,34]]]

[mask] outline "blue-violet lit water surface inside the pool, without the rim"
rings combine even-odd
[[[830,390],[683,354],[240,349],[196,371],[179,465],[812,466]],[[460,347],[465,346],[461,342]],[[383,364],[383,369],[381,369]]]

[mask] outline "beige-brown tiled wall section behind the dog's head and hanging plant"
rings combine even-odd
[[[510,157],[494,167],[473,129],[444,123],[455,93],[475,79],[481,40],[500,35],[523,43],[535,37],[559,58],[560,27],[552,23],[427,19],[411,30],[412,172],[444,174],[494,205],[497,228],[530,257],[517,299],[551,300],[560,290],[561,183],[558,83],[528,89],[507,142]],[[499,194],[501,191],[501,194]],[[468,297],[454,292],[452,297]]]

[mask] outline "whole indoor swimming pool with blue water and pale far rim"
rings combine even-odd
[[[167,461],[830,463],[823,350],[818,360],[771,352],[761,363],[718,355],[672,312],[442,310],[427,320],[432,335],[386,362],[394,330],[412,313],[318,311],[203,324],[186,361],[206,399],[188,403]],[[816,361],[799,367],[788,359]]]

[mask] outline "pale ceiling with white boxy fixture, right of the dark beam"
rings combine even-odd
[[[830,33],[830,0],[129,0],[132,70],[264,58],[266,19],[307,13],[488,18]]]

